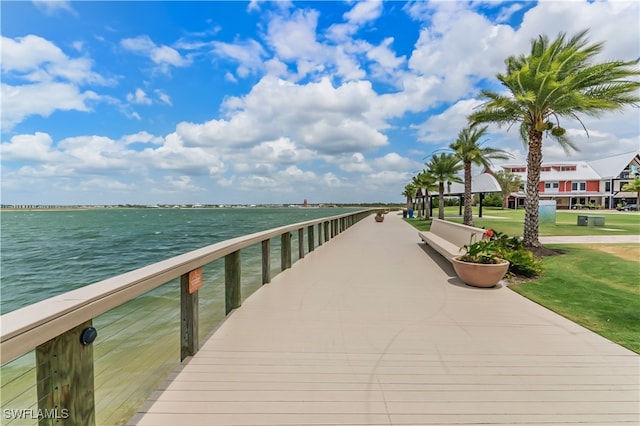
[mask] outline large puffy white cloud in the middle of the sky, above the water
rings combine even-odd
[[[180,123],[190,146],[251,147],[285,137],[319,153],[366,152],[388,143],[366,117],[375,93],[368,82],[333,87],[328,79],[298,85],[265,77],[243,98],[226,102],[227,119]]]

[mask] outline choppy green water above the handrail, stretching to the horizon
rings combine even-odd
[[[5,211],[0,215],[0,312],[229,238],[348,211],[352,209]]]

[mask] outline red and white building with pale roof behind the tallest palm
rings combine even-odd
[[[526,164],[502,165],[527,181]],[[582,207],[615,208],[635,203],[637,194],[621,188],[640,177],[640,151],[594,161],[543,163],[540,169],[540,199],[555,200],[559,209]],[[512,193],[509,208],[524,205],[524,192]]]

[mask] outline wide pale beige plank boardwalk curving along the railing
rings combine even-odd
[[[367,218],[233,312],[132,425],[637,425],[640,357]]]

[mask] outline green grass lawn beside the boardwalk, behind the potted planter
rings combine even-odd
[[[605,226],[577,226],[578,214],[605,216]],[[457,207],[447,208],[446,215],[448,220],[462,222],[457,217]],[[474,225],[493,228],[509,236],[522,235],[523,210],[484,208],[483,216],[474,217]],[[423,231],[431,225],[431,221],[406,220]],[[640,234],[638,213],[559,211],[555,225],[540,225],[541,236],[629,234]],[[640,245],[553,245],[550,248],[561,249],[564,254],[545,257],[544,273],[539,279],[509,288],[640,353]]]

